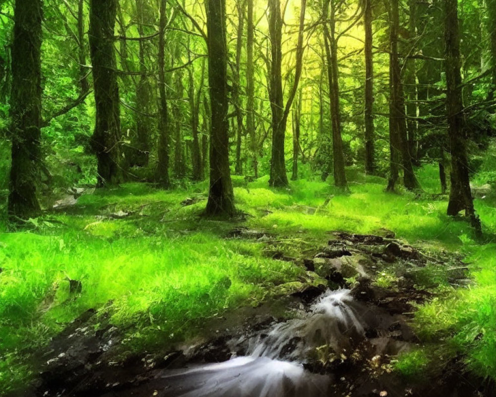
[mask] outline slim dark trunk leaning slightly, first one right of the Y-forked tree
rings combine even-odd
[[[339,70],[338,70],[338,46],[336,39],[336,0],[324,1],[324,16],[329,15],[329,27],[324,24],[324,43],[327,58],[327,74],[329,79],[329,100],[332,124],[332,158],[334,171],[334,185],[347,190],[343,138],[341,136],[341,109],[339,104]]]

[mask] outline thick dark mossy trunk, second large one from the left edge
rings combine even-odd
[[[121,121],[114,27],[117,0],[90,0],[89,43],[96,122],[91,147],[98,162],[97,187],[121,182]]]

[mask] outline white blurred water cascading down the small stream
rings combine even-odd
[[[233,340],[244,345],[246,356],[207,364],[162,376],[168,384],[159,393],[167,397],[320,397],[328,395],[332,375],[304,369],[318,346],[343,351],[350,337],[364,335],[364,307],[349,290],[327,291],[310,310],[259,334]]]

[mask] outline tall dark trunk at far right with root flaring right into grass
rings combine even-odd
[[[457,0],[444,1],[444,40],[446,67],[446,99],[449,147],[451,151],[451,191],[448,215],[465,210],[478,235],[482,234],[481,222],[475,213],[466,153],[466,128],[463,115],[462,79],[460,73],[460,34]]]

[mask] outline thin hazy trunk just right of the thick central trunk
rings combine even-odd
[[[236,108],[236,175],[243,175],[243,162],[241,158],[241,145],[243,136],[243,112],[241,111],[241,50],[243,49],[243,31],[245,29],[245,1],[237,0],[238,29],[236,37],[236,66],[235,79],[233,81],[232,101]]]

